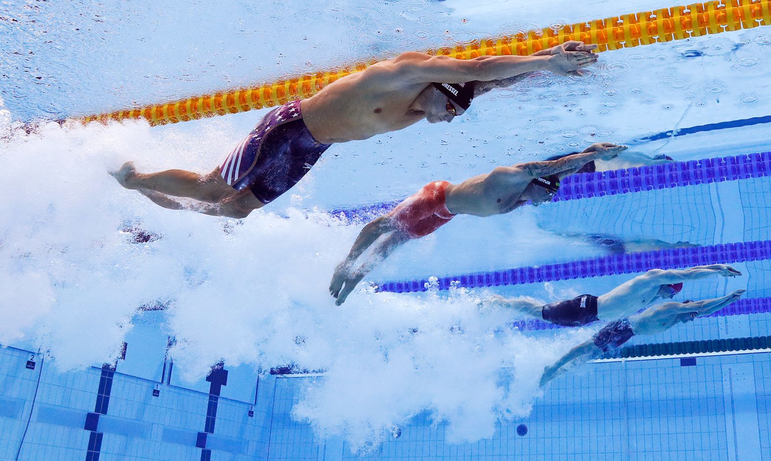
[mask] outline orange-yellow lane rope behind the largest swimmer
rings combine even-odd
[[[569,40],[596,44],[599,51],[605,51],[739,29],[752,29],[760,25],[771,25],[771,0],[715,0],[579,22],[564,25],[558,29],[503,35],[456,45],[452,48],[432,50],[429,54],[452,56],[456,59],[473,59],[478,56],[527,56]],[[80,120],[87,123],[95,120],[144,118],[151,125],[163,125],[278,106],[292,99],[313,96],[318,90],[335,80],[366,69],[375,62],[377,61],[371,60],[344,69],[308,74],[252,88],[222,91],[180,101],[86,116]]]

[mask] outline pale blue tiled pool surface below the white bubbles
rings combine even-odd
[[[527,418],[499,423],[493,439],[446,443],[446,426],[423,413],[365,454],[291,419],[301,386],[323,376],[268,376],[253,405],[227,399],[225,386],[201,446],[210,394],[122,375],[119,364],[108,411],[87,428],[103,369],[59,374],[37,359],[28,368],[29,358],[0,350],[2,460],[16,459],[29,420],[18,459],[771,461],[767,352],[594,363],[557,378]],[[102,434],[96,456],[94,432]]]

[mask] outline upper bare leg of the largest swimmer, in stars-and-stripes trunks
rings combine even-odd
[[[202,202],[216,203],[237,193],[227,185],[219,169],[206,175],[186,170],[166,170],[158,173],[138,173],[133,162],[110,173],[126,189],[143,189],[174,197],[187,197]]]

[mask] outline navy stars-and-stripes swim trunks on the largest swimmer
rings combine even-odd
[[[300,101],[268,112],[220,167],[236,190],[248,187],[263,204],[291,189],[330,144],[316,141],[305,126]]]

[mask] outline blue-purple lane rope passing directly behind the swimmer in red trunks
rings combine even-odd
[[[766,177],[769,173],[771,173],[771,152],[662,163],[625,170],[578,173],[562,181],[560,190],[552,201],[720,183]],[[331,214],[359,222],[385,214],[400,202],[401,200],[391,200],[363,207],[342,208],[332,210]]]

